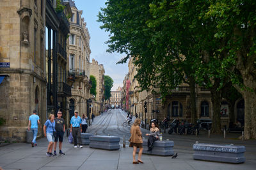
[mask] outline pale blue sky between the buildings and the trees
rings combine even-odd
[[[114,81],[111,89],[113,91],[118,86],[123,86],[125,74],[128,73],[128,64],[116,65],[125,54],[106,52],[108,45],[105,42],[109,39],[109,33],[100,29],[102,23],[97,22],[100,8],[106,7],[105,2],[106,0],[75,0],[77,9],[83,11],[82,17],[90,33],[91,62],[94,58],[99,64],[104,65],[105,75],[109,75]]]

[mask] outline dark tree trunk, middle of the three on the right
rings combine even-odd
[[[221,91],[218,91],[220,86],[220,79],[214,79],[214,85],[211,88],[211,100],[212,100],[212,128],[211,132],[214,134],[221,133],[220,122],[220,106],[221,106]]]

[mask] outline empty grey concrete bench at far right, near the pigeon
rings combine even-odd
[[[239,164],[245,162],[244,146],[230,144],[193,144],[193,158],[197,160],[209,160],[215,162],[228,162]]]

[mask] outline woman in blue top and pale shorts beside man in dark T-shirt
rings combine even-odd
[[[45,121],[44,123],[44,136],[48,139],[48,148],[46,155],[48,157],[54,156],[52,154],[52,148],[53,148],[53,133],[55,131],[55,121],[54,121],[54,114],[49,115],[49,119]]]

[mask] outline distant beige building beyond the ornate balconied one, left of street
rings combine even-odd
[[[92,59],[92,63],[90,63],[90,75],[93,75],[97,81],[96,97],[92,107],[92,112],[95,116],[104,110],[104,73],[104,66],[99,65],[98,61]]]

